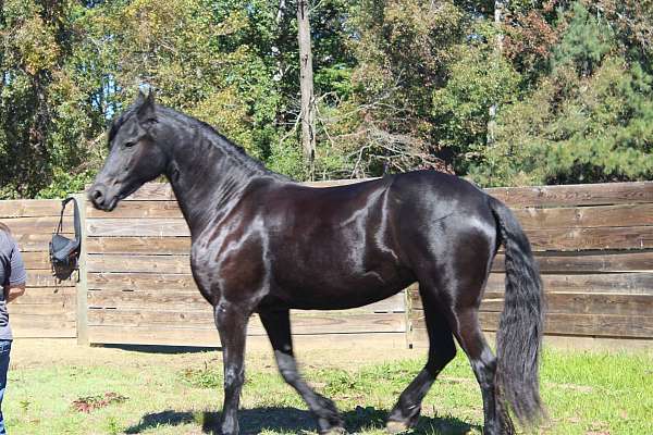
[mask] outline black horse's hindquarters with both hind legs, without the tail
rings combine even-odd
[[[418,225],[402,228],[402,248],[419,283],[430,346],[424,369],[402,394],[390,415],[391,430],[406,428],[416,422],[422,398],[455,356],[453,337],[467,353],[481,386],[485,433],[497,434],[507,426],[496,412],[496,361],[478,319],[496,250],[496,222],[483,194],[471,190],[459,198],[445,204],[440,200],[423,201],[415,213]]]

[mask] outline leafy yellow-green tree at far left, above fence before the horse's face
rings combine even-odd
[[[5,1],[0,101],[0,197],[33,197],[71,169],[87,173],[98,113],[69,69],[78,33],[72,1]]]

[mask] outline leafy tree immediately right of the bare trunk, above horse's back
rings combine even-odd
[[[431,92],[445,80],[465,14],[453,2],[362,0],[352,10],[350,92],[319,105],[336,176],[447,171],[433,136]],[[340,158],[338,158],[340,157]],[[332,175],[333,176],[333,175]]]

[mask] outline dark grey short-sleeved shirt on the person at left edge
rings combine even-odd
[[[8,285],[25,283],[27,273],[23,264],[19,246],[11,235],[0,229],[0,285],[2,289]],[[9,326],[9,313],[4,291],[0,291],[0,340],[12,339]]]

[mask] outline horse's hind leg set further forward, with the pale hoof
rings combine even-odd
[[[417,423],[421,402],[435,382],[438,374],[456,356],[456,345],[448,322],[440,310],[431,291],[420,285],[423,301],[424,320],[429,335],[429,357],[424,368],[401,394],[387,418],[386,430],[390,433],[405,432]]]

